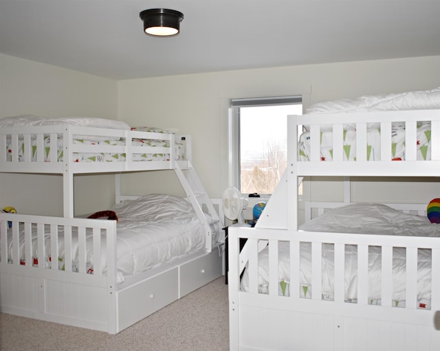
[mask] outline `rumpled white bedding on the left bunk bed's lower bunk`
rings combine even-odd
[[[149,194],[133,201],[115,205],[113,214],[118,218],[117,231],[117,282],[123,282],[126,276],[147,271],[186,253],[203,250],[206,245],[206,232],[203,229],[192,206],[185,199],[177,196]],[[108,212],[108,211],[107,211]],[[98,212],[100,215],[101,212]],[[106,213],[107,214],[107,213]],[[209,214],[206,214],[209,218]],[[96,216],[92,216],[96,217]],[[20,226],[19,246],[21,264],[25,262],[25,238],[23,225]],[[214,231],[214,233],[216,233]],[[101,274],[107,272],[107,255],[101,234]],[[94,250],[93,234],[86,232],[85,255],[87,273],[93,274]],[[217,240],[216,237],[213,238]],[[50,226],[45,228],[45,267],[51,267],[51,236]],[[63,228],[58,228],[58,269],[65,269]],[[8,234],[9,258],[12,258],[12,234]],[[36,228],[32,230],[33,265],[38,262],[38,240]],[[78,232],[72,228],[72,271],[78,271]]]

